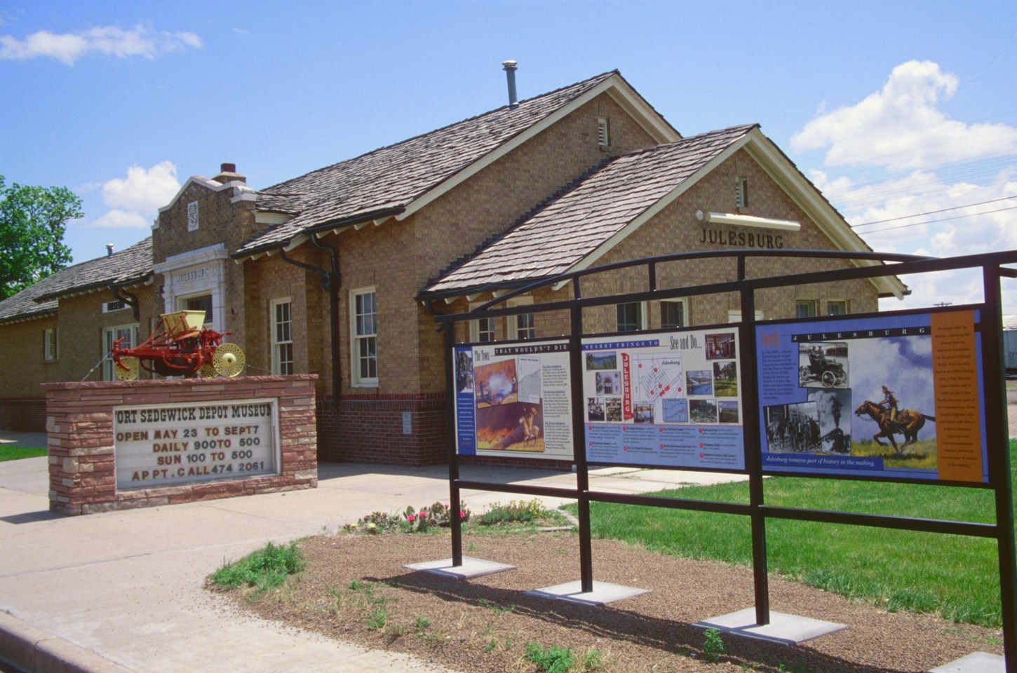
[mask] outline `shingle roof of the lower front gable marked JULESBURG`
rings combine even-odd
[[[445,269],[421,295],[467,294],[563,273],[756,128],[734,126],[614,158],[470,258]]]

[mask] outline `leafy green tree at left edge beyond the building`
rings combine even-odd
[[[82,217],[81,199],[66,187],[8,187],[0,175],[0,299],[66,266],[66,224]]]

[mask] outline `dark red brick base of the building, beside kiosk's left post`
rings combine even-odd
[[[317,423],[320,461],[417,467],[447,456],[443,392],[344,395],[338,407],[319,396]]]

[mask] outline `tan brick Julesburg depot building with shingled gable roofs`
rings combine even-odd
[[[746,247],[869,250],[758,125],[682,137],[617,71],[264,189],[224,164],[184,184],[151,238],[0,302],[0,427],[42,430],[40,383],[112,379],[103,358],[116,339],[136,344],[160,314],[203,309],[208,326],[243,348],[246,373],[318,374],[320,460],[435,463],[446,450],[446,397],[433,313],[572,269]],[[774,259],[754,272],[820,268]],[[683,263],[662,267],[657,282],[733,272],[717,260]],[[601,292],[646,289],[624,273],[598,283]],[[567,285],[552,288],[513,301],[570,297]],[[875,311],[879,297],[906,293],[892,277],[789,290],[760,293],[760,313]],[[591,311],[584,328],[739,316],[734,298],[656,304]],[[458,338],[566,330],[541,312],[474,321]]]

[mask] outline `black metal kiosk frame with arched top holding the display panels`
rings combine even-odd
[[[840,262],[838,268],[823,271],[812,271],[781,277],[750,278],[749,265],[752,260],[760,258],[807,258],[826,259]],[[734,262],[736,280],[719,282],[694,287],[660,288],[657,282],[658,266],[665,263],[683,260],[728,259]],[[843,261],[860,261],[860,264],[844,265]],[[733,251],[703,251],[670,255],[661,255],[635,259],[613,264],[606,264],[564,273],[550,279],[510,289],[501,296],[466,313],[435,315],[434,319],[443,329],[445,352],[447,355],[446,389],[450,391],[448,411],[448,480],[451,502],[460,502],[463,489],[489,490],[504,493],[518,493],[534,496],[571,498],[579,504],[579,539],[580,539],[580,582],[584,592],[593,589],[593,559],[590,528],[590,503],[614,502],[621,504],[639,504],[678,509],[692,509],[708,512],[740,514],[752,521],[753,570],[755,579],[755,609],[758,624],[770,622],[769,588],[767,580],[767,545],[766,521],[768,518],[797,519],[828,524],[848,524],[904,531],[928,533],[945,533],[952,535],[972,536],[995,539],[999,555],[999,572],[1001,589],[1001,608],[1004,633],[1004,651],[1007,673],[1017,673],[1017,557],[1014,552],[1014,511],[1013,494],[1010,478],[1010,457],[1007,426],[1007,410],[1004,382],[1004,353],[1002,339],[1002,279],[1017,278],[1017,270],[1005,266],[1017,264],[1017,251],[968,255],[952,258],[929,258],[913,255],[888,254],[877,252],[843,252],[816,250],[733,250]],[[647,273],[645,292],[624,295],[609,295],[585,297],[583,281],[591,276],[622,268],[643,267]],[[795,285],[824,284],[851,281],[855,279],[875,279],[880,277],[906,277],[915,273],[937,273],[957,269],[978,269],[982,277],[983,301],[965,307],[950,307],[976,311],[979,319],[976,330],[980,334],[981,344],[981,381],[984,400],[983,418],[985,419],[984,437],[988,444],[988,483],[953,483],[939,481],[940,484],[967,486],[972,488],[989,488],[995,494],[996,523],[979,524],[963,521],[941,521],[915,518],[906,516],[888,516],[865,514],[836,510],[802,509],[768,505],[765,498],[764,476],[775,474],[768,472],[761,461],[760,436],[760,401],[759,381],[757,380],[757,325],[775,323],[775,320],[756,319],[756,293],[761,290],[779,289]],[[505,302],[513,297],[530,293],[549,286],[571,286],[572,299],[548,303],[527,304],[523,307],[508,307]],[[740,369],[742,391],[742,419],[744,441],[744,470],[731,470],[737,474],[747,475],[750,502],[727,503],[691,500],[682,498],[659,497],[654,495],[630,495],[593,491],[590,489],[589,470],[591,466],[609,467],[618,465],[612,463],[594,463],[587,460],[586,445],[582,432],[584,420],[584,389],[580,372],[582,371],[582,340],[592,334],[583,333],[583,311],[587,308],[615,305],[626,302],[642,302],[649,300],[687,298],[696,296],[719,295],[734,293],[740,298],[741,320],[724,325],[725,328],[737,331],[740,347],[737,362]],[[504,307],[499,307],[499,305]],[[942,309],[928,309],[923,313],[935,313]],[[455,391],[455,348],[469,344],[457,344],[454,325],[457,322],[513,316],[519,313],[538,313],[543,311],[567,311],[571,322],[571,332],[562,340],[567,340],[569,362],[571,372],[571,400],[573,455],[575,464],[576,488],[550,488],[518,484],[491,483],[485,481],[464,480],[460,476],[460,455],[457,449],[457,432],[454,405],[451,399]],[[869,316],[904,315],[916,311],[889,311],[868,314]],[[845,317],[845,316],[838,316]],[[852,314],[851,318],[865,318],[866,315]],[[827,318],[816,318],[816,323],[822,326]],[[705,325],[709,326],[709,325]],[[567,460],[567,458],[566,458]],[[661,467],[661,466],[653,466]],[[691,470],[694,468],[677,468]],[[709,469],[709,472],[724,472],[724,470]],[[795,476],[794,474],[782,476]],[[822,477],[822,475],[805,475]],[[857,478],[835,476],[829,478]],[[877,478],[878,479],[878,478]],[[909,480],[906,478],[889,478],[887,481],[902,483],[929,483],[928,480]],[[453,507],[455,511],[455,506]],[[462,565],[462,527],[457,517],[453,517],[452,547],[453,564]]]

